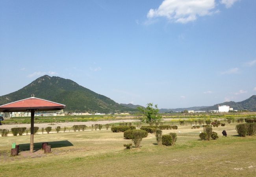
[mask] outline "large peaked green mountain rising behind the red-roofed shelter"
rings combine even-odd
[[[115,113],[137,111],[97,94],[70,79],[42,76],[16,92],[0,96],[0,105],[31,97],[66,105],[65,111]]]

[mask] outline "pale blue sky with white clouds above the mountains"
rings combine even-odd
[[[254,0],[0,1],[0,95],[48,74],[118,103],[256,94]]]

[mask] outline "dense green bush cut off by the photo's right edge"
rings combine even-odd
[[[238,135],[245,137],[252,136],[256,133],[256,123],[246,123],[236,125]]]

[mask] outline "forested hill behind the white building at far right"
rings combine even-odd
[[[232,107],[234,110],[249,110],[249,111],[256,111],[256,95],[251,96],[247,100],[240,101],[240,102],[234,102],[234,101],[228,101],[224,103],[219,103],[210,107],[202,108],[200,111],[207,111],[207,110],[218,110],[218,106],[222,105],[228,105]]]

